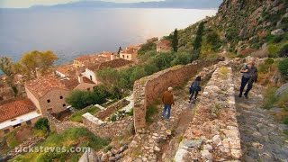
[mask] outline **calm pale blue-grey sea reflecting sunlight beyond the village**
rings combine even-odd
[[[17,9],[0,10],[0,55],[53,50],[58,63],[76,56],[162,37],[216,14],[193,9]]]

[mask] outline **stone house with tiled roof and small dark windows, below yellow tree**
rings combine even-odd
[[[67,86],[54,76],[45,76],[25,84],[27,97],[45,115],[47,112],[66,110],[65,98],[69,94]]]

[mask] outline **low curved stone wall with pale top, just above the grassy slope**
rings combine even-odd
[[[128,117],[121,121],[103,122],[90,113],[85,113],[82,116],[85,128],[101,138],[112,138],[120,136],[127,131],[133,129],[133,118]]]

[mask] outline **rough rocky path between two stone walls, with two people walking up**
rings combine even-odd
[[[215,66],[205,67],[198,75],[201,75],[203,80],[208,80],[215,69]],[[157,106],[157,117],[152,119],[153,123],[147,130],[136,134],[130,143],[130,152],[134,152],[134,157],[124,157],[122,161],[166,161],[175,156],[179,144],[177,138],[184,134],[193,119],[194,103],[188,103],[188,87],[191,83],[192,80],[184,89],[174,91],[175,105],[172,106],[169,121],[160,118],[163,108],[162,105]],[[135,155],[135,152],[138,154]]]

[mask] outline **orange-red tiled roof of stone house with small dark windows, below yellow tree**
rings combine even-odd
[[[54,88],[67,90],[67,87],[54,76],[45,76],[39,79],[31,80],[25,85],[38,99]]]

